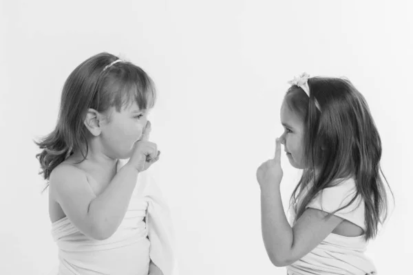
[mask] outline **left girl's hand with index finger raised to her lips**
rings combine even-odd
[[[148,121],[143,130],[142,138],[135,142],[134,152],[128,162],[139,172],[147,170],[149,166],[159,159],[160,151],[158,151],[158,146],[153,142],[149,142],[150,133],[151,122]]]

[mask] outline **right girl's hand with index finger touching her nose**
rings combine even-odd
[[[261,164],[257,169],[257,181],[261,190],[281,183],[283,171],[281,168],[281,142],[275,140],[275,156]]]

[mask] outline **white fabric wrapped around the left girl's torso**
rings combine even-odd
[[[126,163],[119,160],[118,170]],[[59,248],[58,275],[147,275],[150,261],[173,275],[170,212],[148,170],[138,175],[125,217],[108,239],[85,236],[67,217],[52,223],[52,238]]]

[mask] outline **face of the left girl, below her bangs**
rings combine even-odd
[[[140,110],[134,102],[117,112],[115,107],[109,109],[109,121],[102,126],[102,143],[105,155],[114,159],[131,157],[134,144],[142,137],[147,124],[148,110]]]

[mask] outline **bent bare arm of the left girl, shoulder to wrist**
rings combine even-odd
[[[138,170],[126,164],[96,197],[83,170],[61,165],[50,176],[50,192],[78,230],[102,240],[112,236],[125,217],[137,178]]]

